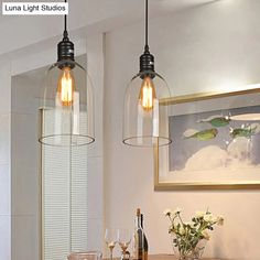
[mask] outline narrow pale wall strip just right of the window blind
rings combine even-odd
[[[88,145],[88,250],[101,250],[104,229],[104,35],[87,37],[87,72],[95,96],[95,142]]]

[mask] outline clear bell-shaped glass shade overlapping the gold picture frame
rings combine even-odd
[[[126,91],[123,143],[136,147],[166,145],[170,89],[154,72],[136,75]],[[164,100],[164,101],[163,101]]]

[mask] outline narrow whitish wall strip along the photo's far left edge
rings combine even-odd
[[[0,259],[11,258],[11,64],[0,65]]]

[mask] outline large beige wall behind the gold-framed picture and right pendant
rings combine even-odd
[[[201,6],[150,23],[155,69],[173,95],[231,90],[260,80],[260,1],[226,0]],[[172,252],[162,212],[182,207],[223,214],[224,227],[213,232],[205,254],[258,260],[260,256],[260,192],[154,192],[152,151],[122,144],[123,95],[139,69],[142,23],[106,35],[105,213],[106,226],[133,227],[141,207],[150,252]]]

